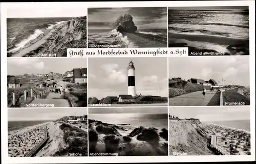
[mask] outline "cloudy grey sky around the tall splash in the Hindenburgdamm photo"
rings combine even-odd
[[[113,29],[119,16],[131,14],[139,29],[167,29],[167,8],[89,8],[88,29]]]

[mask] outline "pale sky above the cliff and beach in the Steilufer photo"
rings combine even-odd
[[[169,113],[201,122],[250,120],[250,106],[169,107]]]

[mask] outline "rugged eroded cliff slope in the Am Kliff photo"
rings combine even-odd
[[[67,48],[87,47],[87,17],[77,17],[57,29],[48,39],[42,53],[57,53],[67,56]]]

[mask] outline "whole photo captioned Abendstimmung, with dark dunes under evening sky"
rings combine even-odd
[[[89,108],[89,156],[168,155],[167,110]]]

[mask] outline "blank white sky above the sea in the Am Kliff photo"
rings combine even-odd
[[[78,17],[86,16],[87,7],[74,3],[19,3],[8,5],[7,18]]]

